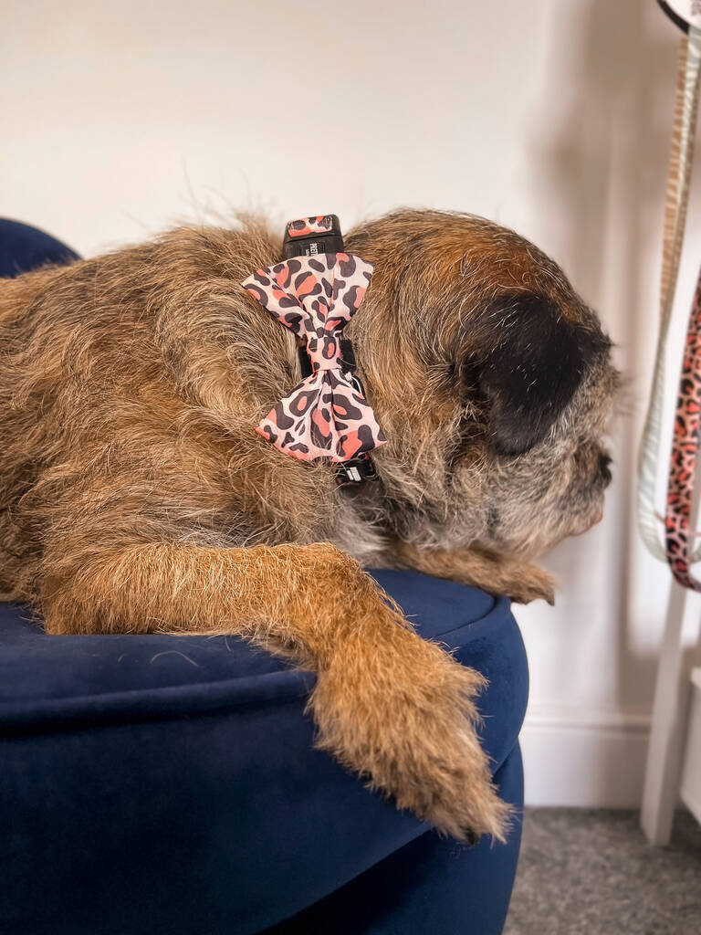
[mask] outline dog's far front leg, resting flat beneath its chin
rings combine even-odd
[[[472,584],[491,594],[503,594],[520,604],[542,598],[555,601],[555,580],[528,562],[503,558],[480,546],[468,549],[420,549],[395,541],[392,555],[400,568],[412,568],[436,578]]]

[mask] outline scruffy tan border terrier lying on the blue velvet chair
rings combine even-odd
[[[241,282],[263,223],[175,230],[0,281],[0,591],[50,634],[232,634],[318,673],[318,743],[459,840],[503,840],[479,672],[422,640],[364,567],[552,600],[537,554],[610,479],[610,343],[547,256],[480,218],[402,210],[346,249],[387,442],[379,475],[280,453],[255,427],[301,379]]]

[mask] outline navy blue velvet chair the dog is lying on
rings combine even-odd
[[[0,222],[6,275],[42,262],[31,231]],[[508,600],[374,575],[489,678],[482,741],[520,810],[528,673]],[[397,812],[313,749],[313,681],[231,637],[49,637],[0,605],[0,932],[501,932],[520,819],[469,848]]]

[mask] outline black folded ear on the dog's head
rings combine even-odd
[[[601,332],[567,321],[538,295],[501,296],[479,314],[477,331],[481,351],[473,356],[473,380],[488,404],[494,451],[506,456],[545,438],[609,347]]]

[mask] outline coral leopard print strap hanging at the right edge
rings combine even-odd
[[[686,333],[681,365],[680,392],[674,419],[665,517],[666,554],[669,566],[683,586],[701,591],[689,566],[690,520],[694,497],[694,473],[701,438],[701,272]]]

